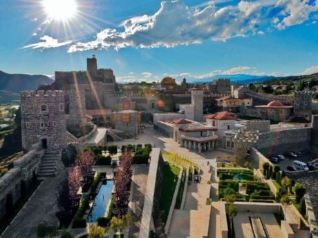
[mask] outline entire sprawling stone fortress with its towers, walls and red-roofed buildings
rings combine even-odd
[[[95,56],[87,59],[85,72],[56,72],[55,77],[47,90],[21,92],[22,143],[27,152],[0,180],[0,217],[6,213],[8,196],[15,203],[24,183],[35,175],[55,175],[56,161],[68,143],[84,148],[138,137],[142,123],[149,122],[142,119],[141,110],[149,112],[156,130],[198,153],[221,149],[243,158],[254,150],[265,156],[304,148],[318,150],[318,116],[312,116],[310,92],[295,92],[290,101],[257,94],[245,86],[231,88],[227,79],[215,81],[207,90],[198,84],[190,88],[186,80],[178,86],[166,77],[159,89],[125,95],[118,92],[112,70],[97,68]],[[204,115],[207,105],[215,106],[215,99],[224,96],[252,99],[254,106],[238,105],[238,115],[258,119],[241,120],[233,112],[218,112],[217,107],[214,114]],[[287,115],[312,118],[312,123],[287,124],[283,122]],[[270,120],[282,122],[271,126]],[[68,124],[82,128],[92,122],[91,132],[79,138],[67,130]]]

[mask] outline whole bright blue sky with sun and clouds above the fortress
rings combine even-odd
[[[2,0],[0,70],[83,70],[95,52],[119,81],[310,74],[317,22],[318,0]]]

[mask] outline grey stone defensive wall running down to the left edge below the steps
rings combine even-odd
[[[16,204],[35,178],[44,152],[40,143],[34,144],[26,155],[13,163],[13,168],[0,177],[0,219],[6,215],[8,204]]]

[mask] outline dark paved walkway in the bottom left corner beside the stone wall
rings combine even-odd
[[[59,211],[57,190],[66,178],[62,171],[64,170],[59,169],[57,177],[50,177],[41,183],[32,198],[3,232],[1,238],[36,238],[36,229],[39,224],[58,224],[58,219],[55,217],[55,213]]]

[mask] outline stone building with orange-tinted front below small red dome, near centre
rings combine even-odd
[[[124,137],[136,137],[139,133],[141,115],[135,110],[113,112],[113,128],[124,132]]]

